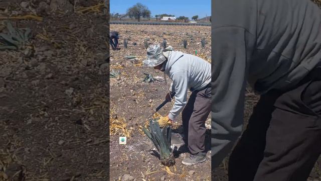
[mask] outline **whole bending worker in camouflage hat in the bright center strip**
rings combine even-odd
[[[171,46],[163,51],[159,45],[149,46],[143,64],[163,71],[165,82],[166,75],[173,80],[166,99],[171,101],[170,95],[175,92],[175,104],[168,116],[159,120],[159,125],[173,123],[183,111],[184,142],[191,154],[182,163],[192,165],[204,162],[205,121],[211,111],[211,64],[197,56],[174,51]],[[192,92],[189,101],[188,89]]]

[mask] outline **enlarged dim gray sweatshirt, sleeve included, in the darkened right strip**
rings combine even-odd
[[[321,11],[309,0],[212,4],[212,168],[243,127],[248,83],[259,94],[295,86],[321,60]]]

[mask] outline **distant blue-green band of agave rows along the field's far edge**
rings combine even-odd
[[[110,24],[117,25],[183,25],[183,26],[211,26],[210,23],[177,23],[177,22],[126,22],[126,21],[110,21]]]

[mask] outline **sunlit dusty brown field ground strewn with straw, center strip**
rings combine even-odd
[[[163,73],[144,68],[140,64],[146,58],[143,40],[149,38],[149,43],[162,43],[165,38],[167,45],[173,46],[174,49],[190,54],[197,50],[198,56],[210,61],[211,27],[110,25],[110,31],[114,30],[120,33],[121,50],[111,50],[113,57],[110,59],[110,69],[118,70],[121,74],[110,79],[110,110],[112,118],[116,118],[110,122],[110,180],[130,176],[135,180],[210,180],[210,152],[207,153],[206,162],[194,166],[184,166],[181,161],[187,153],[181,154],[176,158],[175,167],[169,168],[172,172],[169,173],[161,161],[151,154],[153,145],[138,127],[144,125],[146,118],[164,101],[167,94]],[[201,48],[202,38],[206,38],[208,42],[204,49]],[[124,39],[129,39],[128,49],[123,46]],[[183,47],[183,39],[188,41],[187,49]],[[136,60],[126,60],[124,56],[127,55],[135,55]],[[151,73],[163,82],[142,82],[143,72]],[[170,84],[170,79],[167,80]],[[159,113],[165,116],[172,105],[173,103],[167,104]],[[120,120],[123,123],[117,122]],[[182,121],[179,119],[177,127],[181,124]],[[117,125],[123,125],[125,132],[117,129]],[[208,135],[209,133],[210,129]],[[119,136],[125,134],[130,135],[127,144],[119,145]],[[207,142],[210,142],[209,139]],[[210,149],[209,144],[207,148]]]

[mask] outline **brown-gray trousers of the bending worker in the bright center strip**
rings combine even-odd
[[[188,130],[188,147],[192,154],[205,152],[205,122],[211,112],[211,87],[193,93],[189,102],[184,110],[186,114],[184,127]],[[187,123],[188,129],[186,128]]]

